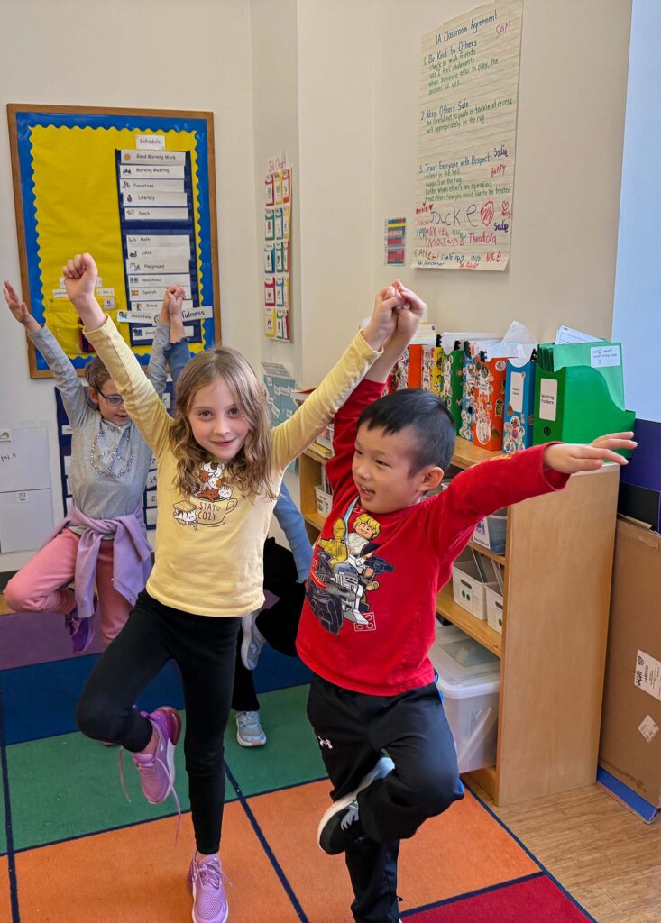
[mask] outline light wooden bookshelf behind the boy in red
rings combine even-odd
[[[493,457],[458,439],[452,464]],[[313,450],[300,460],[313,541],[324,461]],[[437,613],[500,658],[497,761],[472,773],[499,805],[595,782],[618,485],[617,465],[575,475],[509,510],[504,555],[470,543],[505,569],[502,635],[454,602],[451,583],[439,593]]]

